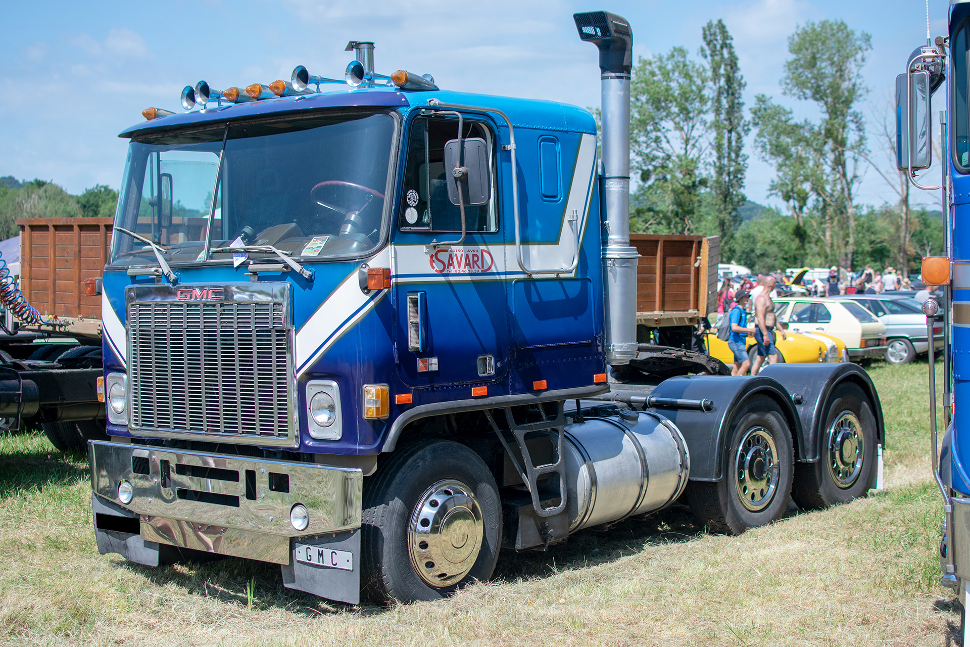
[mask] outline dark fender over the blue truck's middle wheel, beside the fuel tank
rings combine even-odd
[[[727,438],[734,412],[749,398],[766,395],[781,408],[789,429],[795,453],[800,445],[801,419],[792,398],[781,384],[770,377],[725,377],[721,375],[692,375],[663,380],[650,394],[656,398],[710,400],[711,411],[657,407],[683,434],[691,455],[692,481],[720,481]],[[798,456],[795,457],[798,459]]]

